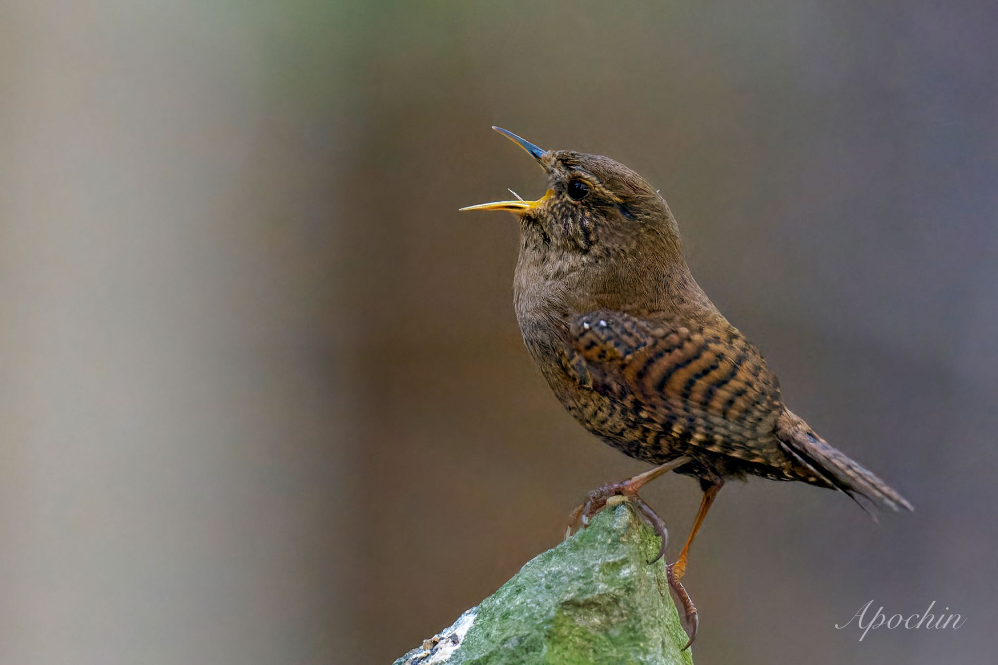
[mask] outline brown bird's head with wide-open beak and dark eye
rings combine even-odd
[[[524,246],[592,259],[650,253],[680,255],[676,221],[645,178],[610,158],[545,151],[492,128],[544,169],[548,190],[537,200],[503,200],[462,210],[508,210],[520,217]],[[514,192],[515,193],[515,192]]]

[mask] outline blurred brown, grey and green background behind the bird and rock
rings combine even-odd
[[[513,218],[456,211],[544,190],[491,125],[661,186],[789,406],[916,505],[729,484],[696,661],[990,662],[996,31],[983,0],[4,3],[0,662],[387,663],[644,469],[532,366]],[[700,493],[645,497],[684,534]],[[833,628],[870,599],[966,623]]]

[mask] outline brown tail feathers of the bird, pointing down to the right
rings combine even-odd
[[[859,496],[892,510],[915,509],[886,483],[826,444],[797,416],[786,412],[777,424],[777,436],[783,450],[818,477],[817,485],[840,490],[853,500]]]

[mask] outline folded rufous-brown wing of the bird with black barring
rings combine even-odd
[[[600,310],[570,327],[594,389],[623,385],[641,424],[674,440],[766,467],[785,467],[774,435],[776,378],[733,328],[652,321]]]

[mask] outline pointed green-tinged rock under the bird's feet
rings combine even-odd
[[[692,665],[658,550],[630,503],[607,507],[394,665]]]

